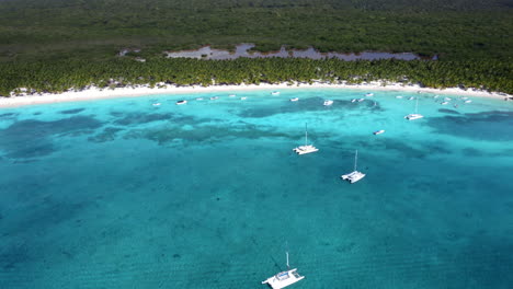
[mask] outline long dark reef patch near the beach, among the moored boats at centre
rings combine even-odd
[[[318,112],[318,111],[347,111],[347,109],[362,109],[368,108],[373,112],[383,111],[378,102],[372,100],[365,100],[364,102],[341,101],[335,100],[330,106],[322,105],[324,99],[322,97],[309,97],[301,99],[295,103],[284,102],[283,105],[262,107],[250,107],[241,111],[238,116],[240,117],[269,117],[278,114],[293,114],[299,112]]]

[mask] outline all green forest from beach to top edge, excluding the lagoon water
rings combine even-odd
[[[513,93],[512,0],[2,0],[0,95],[137,83],[385,79]],[[167,59],[212,45],[438,60]],[[139,54],[118,57],[124,48]],[[144,57],[146,62],[134,61]]]

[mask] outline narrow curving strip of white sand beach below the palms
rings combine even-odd
[[[162,84],[160,84],[162,85]],[[163,84],[164,85],[164,84]],[[316,82],[308,83],[280,83],[269,84],[240,84],[240,85],[209,85],[209,86],[175,86],[166,85],[166,88],[149,88],[141,85],[137,88],[116,88],[116,89],[99,89],[95,86],[84,89],[82,91],[68,91],[64,93],[46,93],[39,95],[23,95],[0,97],[0,108],[19,107],[25,105],[50,104],[61,102],[82,102],[107,99],[124,99],[124,97],[140,97],[158,94],[184,94],[184,93],[206,93],[206,92],[235,92],[235,91],[253,91],[253,90],[284,90],[284,89],[354,89],[362,91],[397,91],[397,92],[422,92],[437,93],[451,95],[465,95],[477,97],[491,97],[497,100],[511,99],[513,95],[497,92],[487,92],[479,90],[463,90],[458,88],[448,89],[432,89],[420,88],[417,84],[403,85],[400,83],[389,83],[384,85],[381,82],[369,82],[364,84],[328,84]]]

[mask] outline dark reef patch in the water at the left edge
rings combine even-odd
[[[73,116],[54,122],[27,119],[0,130],[0,149],[9,158],[34,158],[56,150],[50,137],[80,135],[101,127],[102,123],[89,116]]]

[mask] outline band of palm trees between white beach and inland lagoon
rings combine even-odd
[[[167,59],[147,62],[128,58],[109,61],[57,60],[0,65],[0,95],[16,88],[33,92],[81,90],[160,82],[176,85],[387,80],[430,88],[477,88],[513,93],[512,62],[499,60],[312,60],[304,58],[239,58],[236,60]]]

